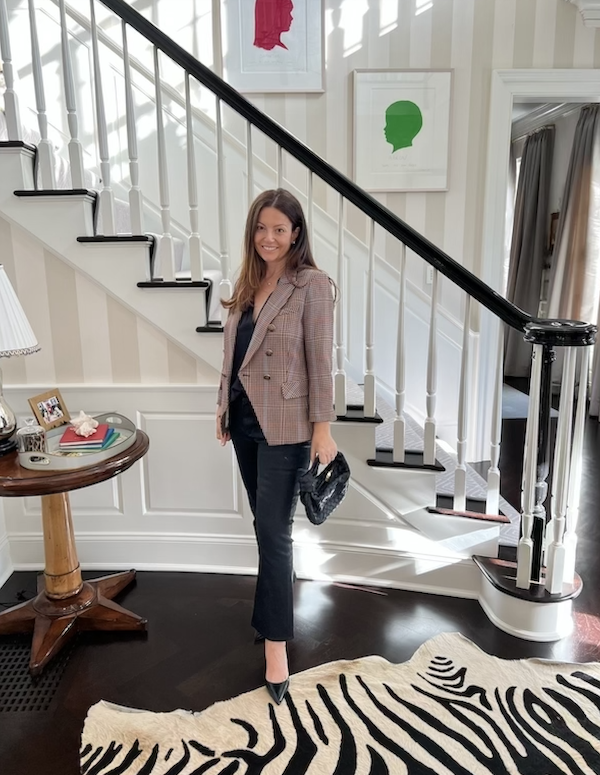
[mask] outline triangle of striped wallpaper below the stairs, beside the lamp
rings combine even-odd
[[[0,261],[42,347],[3,359],[7,385],[211,384],[210,367],[22,229],[0,218]]]

